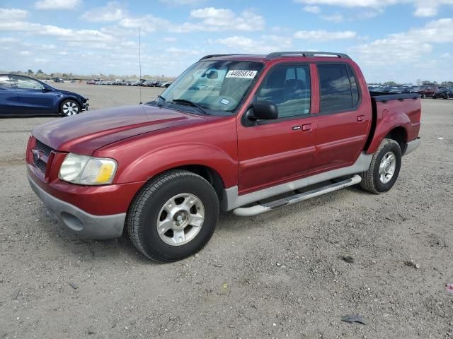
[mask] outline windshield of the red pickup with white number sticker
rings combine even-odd
[[[262,68],[263,64],[252,61],[200,61],[181,74],[156,101],[148,104],[176,104],[191,106],[193,112],[198,108],[205,114],[231,114]]]

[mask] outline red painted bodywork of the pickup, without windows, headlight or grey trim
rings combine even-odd
[[[352,165],[362,151],[374,153],[382,139],[396,127],[404,129],[405,141],[418,136],[420,100],[373,103],[362,72],[350,59],[297,56],[272,60],[263,56],[219,59],[260,61],[265,65],[236,115],[202,116],[139,105],[58,119],[33,131],[26,156],[28,174],[56,198],[93,215],[111,215],[125,213],[147,180],[175,167],[210,167],[222,178],[225,188],[238,186],[241,195]],[[316,63],[320,62],[343,62],[351,66],[362,93],[357,109],[319,113]],[[261,81],[272,66],[281,63],[309,64],[310,114],[243,126],[241,119]],[[365,149],[370,136],[372,140]],[[54,149],[45,172],[34,165],[36,139]],[[59,167],[69,152],[115,159],[118,168],[113,184],[80,186],[59,180]]]

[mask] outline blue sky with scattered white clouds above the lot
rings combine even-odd
[[[2,0],[0,69],[177,76],[205,54],[345,52],[368,82],[453,81],[453,0]]]

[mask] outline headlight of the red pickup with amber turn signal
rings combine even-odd
[[[117,163],[113,159],[69,153],[63,160],[58,177],[73,184],[111,184],[117,167]]]

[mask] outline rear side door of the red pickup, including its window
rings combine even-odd
[[[346,167],[367,141],[371,106],[361,105],[362,94],[349,64],[317,64],[319,114],[314,171]]]

